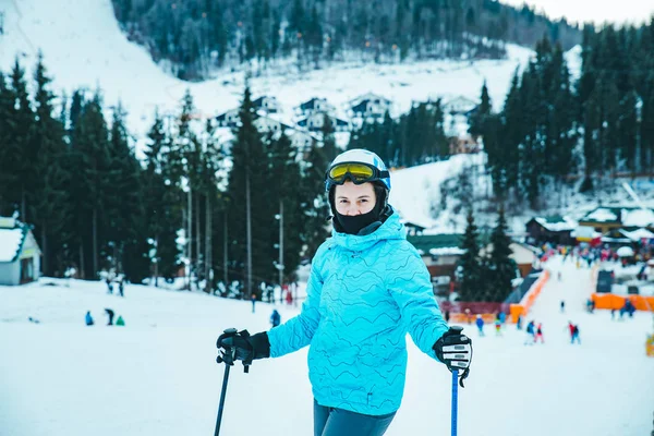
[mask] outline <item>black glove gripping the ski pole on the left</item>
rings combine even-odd
[[[216,347],[219,349],[216,362],[233,365],[234,361],[242,361],[247,367],[255,359],[270,356],[270,341],[265,331],[250,336],[247,330],[237,331],[235,328],[225,330],[218,337]]]

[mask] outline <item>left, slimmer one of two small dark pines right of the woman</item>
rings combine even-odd
[[[459,299],[461,301],[483,301],[486,288],[482,281],[483,268],[480,258],[479,232],[472,209],[469,209],[467,220],[468,226],[461,241],[463,254],[459,261],[462,269]]]

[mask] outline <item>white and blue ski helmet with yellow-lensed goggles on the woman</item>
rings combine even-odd
[[[325,173],[325,191],[350,180],[355,184],[380,182],[390,192],[390,173],[386,165],[373,152],[353,148],[341,153],[334,159]]]

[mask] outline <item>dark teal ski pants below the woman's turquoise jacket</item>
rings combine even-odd
[[[373,416],[325,408],[314,400],[314,436],[382,436],[396,412]]]

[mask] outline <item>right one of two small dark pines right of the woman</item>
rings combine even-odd
[[[488,294],[486,301],[501,303],[512,291],[511,280],[516,277],[516,263],[510,258],[511,239],[507,235],[504,207],[499,209],[497,225],[491,233],[493,251],[488,257]]]

